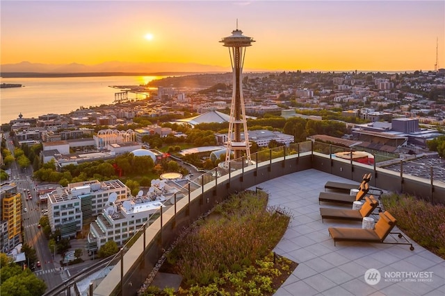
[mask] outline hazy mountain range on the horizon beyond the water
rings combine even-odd
[[[162,72],[227,72],[220,67],[193,62],[103,62],[100,64],[42,64],[19,62],[0,64],[0,73],[162,73]]]

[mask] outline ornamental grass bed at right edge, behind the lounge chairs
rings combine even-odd
[[[445,206],[414,196],[388,193],[382,203],[398,227],[416,243],[445,259]]]

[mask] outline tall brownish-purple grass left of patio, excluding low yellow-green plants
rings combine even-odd
[[[177,263],[190,286],[211,284],[227,266],[237,274],[230,280],[242,282],[243,269],[268,255],[282,238],[291,218],[282,214],[285,211],[266,205],[264,192],[256,195],[245,191],[230,197],[218,205],[217,218],[210,214],[192,225],[190,233],[171,253],[175,258],[170,257],[168,261]]]

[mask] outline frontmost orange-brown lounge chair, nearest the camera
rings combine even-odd
[[[334,245],[337,241],[359,241],[363,243],[389,243],[392,245],[410,245],[410,250],[414,250],[412,243],[410,243],[401,232],[391,232],[396,226],[397,220],[388,211],[379,213],[380,219],[375,223],[375,229],[363,229],[352,227],[329,227],[330,236],[334,239]],[[391,234],[398,234],[398,238],[405,238],[406,243],[399,242],[385,242],[385,238]]]

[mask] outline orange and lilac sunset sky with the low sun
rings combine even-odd
[[[1,64],[193,62],[229,67],[219,42],[256,42],[246,70],[445,67],[445,1],[1,1]]]

